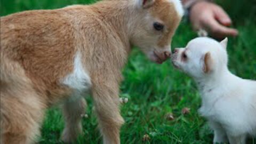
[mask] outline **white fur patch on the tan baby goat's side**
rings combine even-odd
[[[84,92],[90,89],[91,79],[83,68],[79,52],[75,55],[73,73],[67,75],[62,83],[78,92]]]

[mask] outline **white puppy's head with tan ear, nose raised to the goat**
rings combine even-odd
[[[227,67],[227,42],[227,38],[220,43],[211,38],[195,38],[185,48],[174,50],[172,63],[174,67],[195,78],[210,75]]]

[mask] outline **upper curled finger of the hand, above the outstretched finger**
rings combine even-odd
[[[228,14],[221,7],[214,9],[214,17],[224,26],[230,26],[232,23]]]

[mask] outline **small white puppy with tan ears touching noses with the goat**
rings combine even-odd
[[[256,81],[230,73],[227,42],[195,38],[175,49],[172,62],[195,79],[202,97],[199,113],[214,130],[213,142],[246,143],[246,135],[256,134]]]

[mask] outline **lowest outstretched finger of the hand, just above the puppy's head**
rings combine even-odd
[[[208,27],[208,30],[214,36],[225,37],[238,35],[238,31],[236,29],[222,26],[215,19],[210,19],[207,23],[205,23],[205,25],[207,25],[206,27]]]

